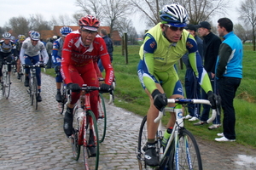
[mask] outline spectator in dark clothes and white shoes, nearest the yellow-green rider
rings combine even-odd
[[[198,52],[201,59],[203,58],[203,42],[200,37],[196,35],[196,27],[195,25],[187,25],[185,27],[189,33],[195,37],[195,42],[197,43]],[[189,62],[189,54],[183,55],[183,63],[187,67],[186,75],[185,75],[185,90],[186,96],[188,99],[201,99],[201,87],[195,77],[195,73]],[[185,119],[189,119],[189,121],[196,121],[200,116],[201,105],[200,104],[189,104],[189,115],[185,116]]]

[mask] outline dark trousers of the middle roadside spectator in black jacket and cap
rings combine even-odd
[[[212,88],[214,89],[213,90],[214,94],[218,94],[218,88],[216,87],[216,84],[214,84],[214,78],[212,78],[212,73],[208,72],[208,76],[212,83]],[[204,90],[202,90],[202,92],[201,92],[201,98],[208,99],[208,95]],[[203,111],[201,112],[201,121],[207,122],[207,120],[209,118],[210,110],[211,110],[211,105],[203,105]],[[220,108],[218,108],[218,111],[219,112],[217,113],[216,118],[212,122],[213,124],[220,124]]]

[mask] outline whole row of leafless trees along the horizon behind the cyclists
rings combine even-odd
[[[228,14],[232,5],[231,0],[76,0],[75,5],[80,8],[70,18],[67,15],[52,17],[50,21],[44,20],[42,14],[32,14],[28,19],[25,17],[13,17],[7,26],[0,27],[0,32],[13,30],[17,34],[26,34],[29,30],[51,30],[53,26],[77,26],[81,16],[93,14],[101,20],[101,26],[110,27],[112,31],[117,30],[122,36],[127,32],[128,37],[137,37],[137,31],[133,26],[134,17],[139,16],[142,23],[149,27],[160,22],[159,11],[166,4],[179,3],[183,5],[189,14],[189,24],[198,24],[200,21],[211,22],[214,16],[224,16]],[[241,20],[241,24],[234,27],[236,34],[242,40],[253,37],[255,46],[255,26],[256,26],[256,0],[245,0],[241,6],[236,8]],[[136,14],[136,15],[135,15]],[[247,26],[244,26],[247,24]],[[251,33],[250,33],[251,32]],[[140,37],[144,32],[139,32]],[[255,50],[255,48],[254,48]]]

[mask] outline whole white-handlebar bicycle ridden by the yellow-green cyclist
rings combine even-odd
[[[176,103],[176,107],[166,107],[165,111],[172,111],[176,113],[176,122],[172,129],[172,134],[168,139],[166,148],[162,146],[162,125],[161,118],[165,114],[159,112],[159,116],[154,122],[160,122],[158,131],[155,135],[156,152],[160,159],[160,166],[155,169],[202,169],[201,154],[199,146],[196,143],[195,137],[190,133],[183,124],[183,106],[190,104],[206,104],[211,105],[207,99],[168,99],[169,104]],[[216,110],[212,110],[212,116],[207,120],[210,123],[216,116]],[[146,165],[144,154],[147,144],[147,116],[143,117],[141,123],[138,146],[137,146],[137,160],[140,170],[154,169]]]

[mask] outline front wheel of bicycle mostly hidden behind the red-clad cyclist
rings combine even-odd
[[[101,93],[98,96],[98,111],[99,117],[97,120],[98,134],[99,134],[99,142],[102,143],[105,139],[106,129],[107,129],[107,113],[105,101]]]

